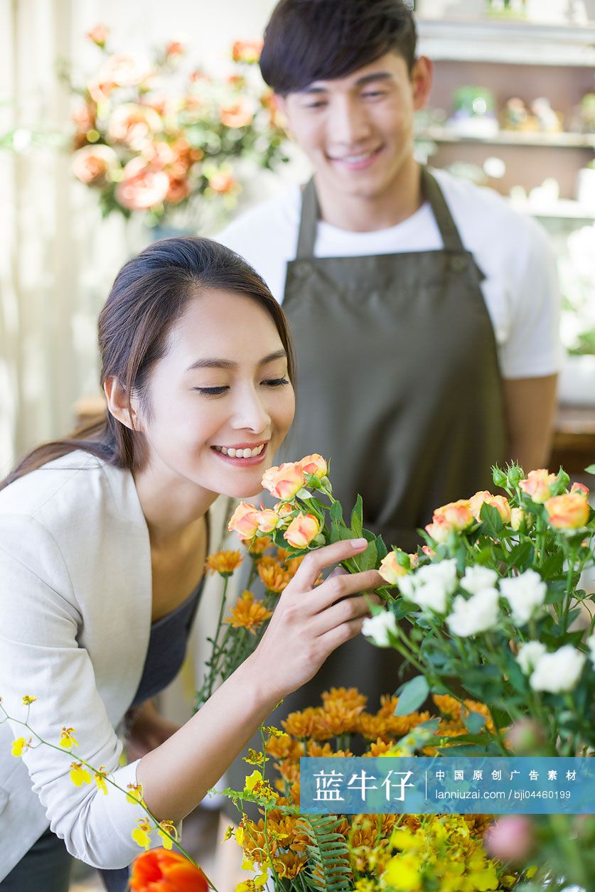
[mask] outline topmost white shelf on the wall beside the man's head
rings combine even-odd
[[[419,52],[434,61],[595,65],[595,25],[417,19]]]

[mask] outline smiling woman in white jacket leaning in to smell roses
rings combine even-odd
[[[368,605],[357,593],[381,584],[374,571],[313,590],[325,567],[366,543],[311,553],[252,656],[174,733],[146,707],[145,728],[161,743],[119,767],[114,729],[184,657],[215,500],[259,492],[291,425],[293,351],[260,277],[198,238],[157,242],[128,261],[99,343],[106,417],[33,452],[0,492],[3,705],[18,717],[33,695],[33,729],[56,743],[74,727],[79,741],[71,758],[41,746],[17,761],[3,726],[3,890],[66,892],[67,853],[112,870],[138,854],[130,833],[140,806],[117,790],[75,787],[77,752],[120,787],[141,784],[158,820],[179,822],[277,702],[359,633]],[[124,888],[126,875],[106,885]]]

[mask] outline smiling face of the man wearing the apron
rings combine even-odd
[[[412,152],[413,118],[431,87],[431,63],[387,53],[345,78],[317,80],[279,100],[296,142],[327,192],[374,198]]]

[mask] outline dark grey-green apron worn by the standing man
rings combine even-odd
[[[483,274],[436,180],[426,169],[421,178],[442,250],[337,258],[314,256],[319,211],[310,181],[283,302],[297,352],[297,411],[278,458],[330,458],[345,519],[359,493],[364,526],[406,550],[417,548],[415,531],[434,508],[489,489],[492,464],[506,457]],[[396,651],[358,636],[270,722],[318,706],[323,690],[340,686],[359,688],[376,712],[380,695],[401,683],[400,667]]]

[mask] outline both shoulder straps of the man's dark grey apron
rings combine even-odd
[[[455,226],[452,214],[444,200],[442,189],[428,169],[421,169],[421,190],[434,213],[436,226],[442,236],[445,251],[464,251],[460,240],[459,230]],[[304,186],[302,193],[302,216],[300,219],[300,232],[298,235],[296,260],[304,260],[314,256],[314,244],[316,243],[316,227],[320,219],[320,208],[314,178]]]

